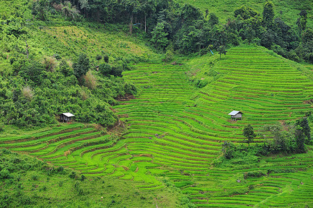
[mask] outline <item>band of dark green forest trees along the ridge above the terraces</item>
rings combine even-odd
[[[265,46],[290,60],[313,62],[313,31],[307,28],[307,11],[301,10],[298,21],[290,26],[274,19],[274,8],[271,1],[264,4],[262,13],[242,6],[226,24],[208,10],[203,15],[188,3],[163,0],[40,0],[35,1],[33,14],[46,19],[52,9],[68,19],[81,15],[103,24],[128,24],[130,34],[144,32],[146,40],[160,51],[172,45],[180,53],[203,54],[245,42]]]

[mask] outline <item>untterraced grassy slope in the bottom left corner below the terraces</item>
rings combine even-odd
[[[0,162],[0,207],[174,207],[177,200],[168,190],[147,193],[135,182],[86,178],[3,148]]]

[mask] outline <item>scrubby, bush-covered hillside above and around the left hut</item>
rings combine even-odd
[[[71,20],[56,10],[40,19],[33,16],[36,2],[0,2],[1,126],[44,127],[62,112],[77,121],[114,125],[110,105],[136,92],[121,71],[129,62],[160,56],[127,35],[126,25]]]

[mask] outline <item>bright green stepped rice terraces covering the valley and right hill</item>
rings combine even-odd
[[[124,78],[141,92],[113,106],[121,137],[71,123],[33,135],[0,137],[0,148],[37,157],[87,177],[137,182],[141,191],[178,187],[197,207],[311,207],[313,150],[214,166],[223,141],[242,130],[299,119],[312,109],[310,75],[264,48],[239,46],[184,64],[134,64]],[[207,83],[205,87],[197,88]],[[244,112],[232,121],[228,113]],[[256,137],[254,143],[263,143]],[[254,144],[251,144],[254,145]],[[154,206],[155,205],[151,205]]]

